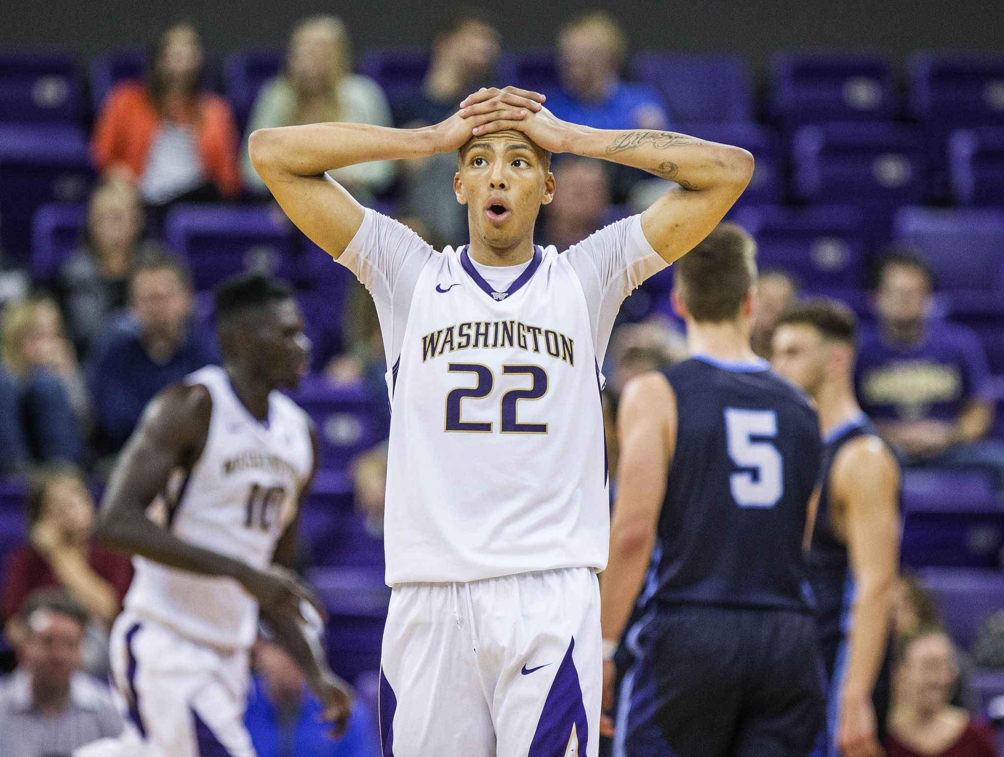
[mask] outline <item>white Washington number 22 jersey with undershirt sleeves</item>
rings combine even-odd
[[[387,582],[602,569],[598,364],[624,296],[666,267],[640,217],[536,247],[503,291],[466,248],[369,210],[338,262],[372,293],[392,366]]]

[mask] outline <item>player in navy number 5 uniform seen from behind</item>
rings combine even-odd
[[[607,706],[640,593],[644,615],[626,636],[615,755],[806,757],[822,726],[804,552],[818,421],[750,347],[754,255],[723,223],[677,263],[691,357],[621,396],[601,580]]]

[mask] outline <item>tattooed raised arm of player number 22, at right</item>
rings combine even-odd
[[[470,117],[497,109],[493,101],[473,97],[461,105],[460,114]],[[473,134],[507,129],[523,132],[551,153],[599,158],[676,182],[682,191],[667,192],[642,215],[646,238],[668,263],[711,233],[753,176],[753,156],[741,148],[673,132],[581,127],[556,118],[547,108],[525,112],[518,119],[495,118],[475,125]]]

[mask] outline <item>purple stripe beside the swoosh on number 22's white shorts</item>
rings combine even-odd
[[[578,671],[571,659],[575,649],[575,640],[571,640],[568,651],[557,673],[551,682],[551,689],[544,700],[544,709],[537,722],[537,731],[533,734],[530,751],[527,757],[564,757],[568,753],[568,744],[572,733],[578,743],[578,749],[573,754],[585,754],[586,742],[589,737],[589,724],[585,718],[585,704],[582,702],[582,689],[578,683]]]

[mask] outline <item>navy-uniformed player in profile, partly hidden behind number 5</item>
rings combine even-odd
[[[853,391],[854,314],[834,300],[790,308],[773,364],[815,400],[821,494],[809,577],[828,681],[818,757],[882,754],[888,646],[900,562],[900,468]]]

